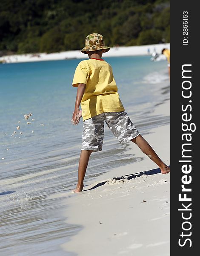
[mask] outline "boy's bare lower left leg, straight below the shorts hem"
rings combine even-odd
[[[81,150],[79,166],[78,166],[78,183],[76,189],[73,192],[81,192],[83,190],[83,180],[86,174],[86,169],[89,162],[89,157],[91,155],[92,150]]]

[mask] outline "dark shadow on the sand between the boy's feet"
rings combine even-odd
[[[170,167],[170,165],[169,165],[169,167]],[[124,175],[124,176],[121,176],[121,177],[114,177],[114,178],[112,178],[112,180],[122,180],[122,179],[125,179],[125,178],[127,180],[131,180],[131,179],[135,179],[136,177],[140,177],[142,175],[153,175],[153,174],[157,174],[157,173],[161,173],[160,172],[160,168],[152,169],[152,170],[145,171],[145,172],[137,172],[137,173],[134,173],[134,174],[128,174],[128,175]],[[91,187],[90,189],[84,189],[83,191],[88,191],[88,190],[96,189],[99,186],[103,186],[107,182],[108,181],[100,182],[97,185]]]

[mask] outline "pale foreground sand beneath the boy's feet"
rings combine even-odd
[[[157,114],[169,115],[169,111],[169,101],[156,109]],[[161,126],[144,136],[168,165],[169,129],[169,125]],[[132,149],[128,154],[132,152],[135,157],[144,157],[143,161],[120,166],[86,182],[85,191],[71,194],[71,198],[64,201],[66,222],[83,227],[71,241],[62,245],[64,250],[79,256],[170,255],[170,174],[143,174],[131,180],[111,180],[157,169],[134,143],[130,145]],[[89,190],[104,181],[109,183]]]

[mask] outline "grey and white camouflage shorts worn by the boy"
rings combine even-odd
[[[102,150],[104,121],[121,143],[127,143],[140,134],[125,111],[101,113],[83,121],[81,150]]]

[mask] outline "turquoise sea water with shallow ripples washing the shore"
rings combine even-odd
[[[151,62],[149,56],[104,59],[112,65],[120,99],[142,134],[169,122],[169,117],[149,117],[157,104],[169,98],[166,61]],[[61,200],[47,199],[70,191],[77,181],[82,125],[71,125],[76,96],[71,81],[79,62],[0,65],[2,255],[66,255],[60,244],[80,229],[64,223]],[[23,115],[30,112],[27,125]],[[107,166],[142,160],[125,154],[128,149],[129,144],[121,145],[106,129],[103,151],[91,155],[86,180],[107,172]]]

